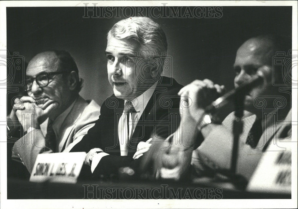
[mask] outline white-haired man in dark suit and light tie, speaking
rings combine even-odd
[[[164,64],[170,64],[167,40],[150,18],[121,20],[107,39],[108,80],[114,95],[105,100],[99,120],[72,149],[88,152],[85,164],[95,177],[117,174],[120,167],[136,163],[151,138],[165,139],[176,130],[169,110],[179,110],[177,93],[182,87],[162,76]]]

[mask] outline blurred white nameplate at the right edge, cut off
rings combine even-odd
[[[248,191],[291,193],[292,143],[278,145],[286,151],[276,151],[277,145],[269,145],[247,185]]]

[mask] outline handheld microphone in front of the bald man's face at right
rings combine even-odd
[[[249,92],[252,88],[255,86],[260,85],[263,83],[263,73],[258,71],[257,75],[255,75],[252,79],[250,79],[248,82],[242,84],[241,86],[229,91],[228,93],[224,94],[223,96],[219,97],[216,99],[214,102],[211,103],[211,105],[207,106],[205,109],[206,113],[213,113],[215,112],[218,108],[221,108],[225,106],[229,100],[232,98],[235,98],[236,96],[239,95],[244,95],[247,92]]]

